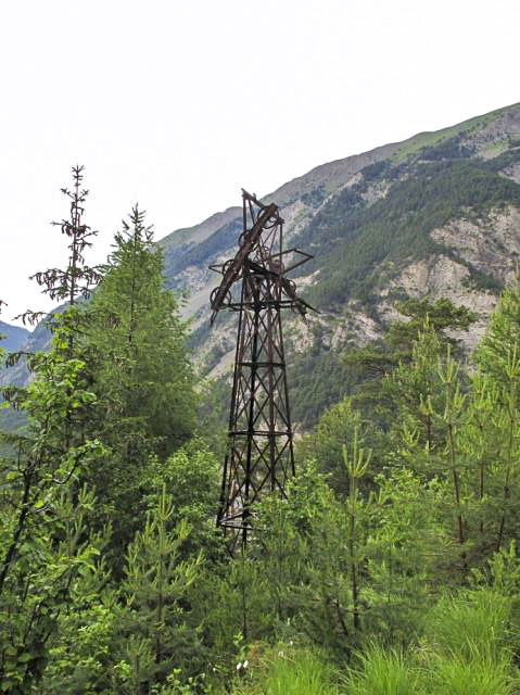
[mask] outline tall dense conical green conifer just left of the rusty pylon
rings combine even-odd
[[[109,448],[106,465],[88,472],[114,552],[142,526],[150,460],[165,460],[194,429],[193,375],[173,292],[163,287],[163,256],[136,206],[89,305],[85,345],[98,396],[92,435]],[[117,549],[116,549],[117,548]]]

